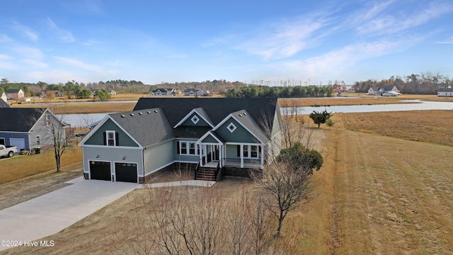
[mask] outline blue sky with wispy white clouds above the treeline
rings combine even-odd
[[[453,77],[453,1],[0,0],[0,78]]]

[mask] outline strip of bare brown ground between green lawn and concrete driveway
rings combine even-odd
[[[82,169],[56,173],[55,170],[0,185],[0,210],[26,200],[56,191],[70,184],[64,183],[82,176]]]

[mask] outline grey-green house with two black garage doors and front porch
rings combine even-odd
[[[140,98],[79,143],[84,177],[146,183],[182,166],[197,179],[248,176],[280,153],[280,119],[277,98]]]

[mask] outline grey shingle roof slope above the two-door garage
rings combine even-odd
[[[160,108],[112,113],[109,116],[142,147],[174,137],[173,129]]]

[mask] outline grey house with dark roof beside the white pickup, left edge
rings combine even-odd
[[[60,137],[65,140],[66,125],[47,108],[0,108],[0,144],[16,146],[18,150],[53,145],[49,130],[52,121],[60,123]]]

